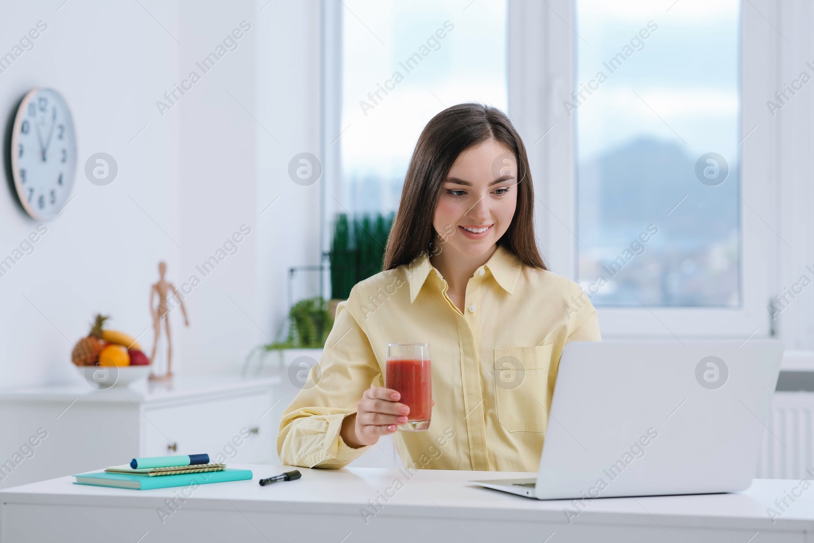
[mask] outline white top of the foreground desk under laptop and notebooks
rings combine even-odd
[[[237,506],[247,513],[319,510],[321,514],[357,515],[370,500],[384,503],[380,515],[459,519],[544,520],[562,523],[571,501],[538,501],[467,484],[469,480],[533,477],[536,474],[494,471],[419,470],[412,478],[402,470],[345,468],[314,470],[291,466],[231,465],[251,469],[252,481],[201,485],[185,504],[198,510]],[[299,470],[300,480],[261,487],[257,481],[283,471]],[[394,490],[394,481],[403,488]],[[617,497],[586,501],[574,523],[645,523],[697,528],[740,528],[755,531],[814,531],[814,489],[803,491],[772,524],[767,508],[799,485],[795,480],[755,480],[742,493],[664,497]],[[390,488],[390,490],[387,490]],[[71,506],[161,507],[177,488],[126,490],[73,484],[72,477],[26,484],[0,491],[4,503]],[[395,493],[395,496],[393,496]],[[382,497],[390,494],[392,497]],[[361,517],[360,517],[361,518]]]

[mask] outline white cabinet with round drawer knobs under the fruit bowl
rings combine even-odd
[[[277,377],[176,377],[94,390],[85,384],[0,392],[0,488],[124,464],[208,453],[269,463]]]

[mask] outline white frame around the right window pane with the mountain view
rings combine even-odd
[[[767,337],[767,304],[777,261],[777,157],[772,149],[775,126],[764,122],[765,97],[774,91],[772,61],[776,31],[742,4],[740,205],[742,240],[742,306],[738,309],[698,307],[597,307],[602,336]],[[768,7],[764,7],[768,10]],[[764,11],[765,12],[765,11]],[[666,14],[667,16],[669,14]],[[562,101],[575,90],[575,1],[510,0],[510,110],[532,160],[536,191],[537,235],[550,269],[576,279],[575,116],[568,117]],[[543,32],[540,32],[543,28]],[[748,36],[749,39],[745,37]],[[746,61],[744,61],[746,60]],[[545,135],[544,135],[545,134]],[[760,182],[768,179],[772,182]],[[743,204],[743,202],[748,205]],[[556,210],[556,211],[554,211]],[[620,247],[621,250],[622,247]]]

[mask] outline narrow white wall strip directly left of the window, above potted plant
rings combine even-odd
[[[320,264],[319,190],[324,178],[312,186],[297,185],[288,177],[288,163],[301,152],[322,156],[321,31],[319,0],[275,1],[264,9],[266,2],[257,4],[265,32],[257,36],[256,117],[265,129],[255,128],[256,212],[262,213],[257,220],[262,250],[257,253],[256,299],[269,301],[257,305],[255,320],[276,339],[286,318],[288,269]],[[298,275],[295,300],[316,296],[317,281],[317,274]],[[258,332],[257,339],[268,342],[265,334]]]

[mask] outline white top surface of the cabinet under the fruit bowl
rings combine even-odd
[[[214,393],[267,389],[280,382],[279,377],[243,378],[238,375],[176,376],[169,381],[131,383],[129,387],[97,390],[87,383],[63,383],[33,388],[0,390],[0,401],[164,401],[209,396]]]

